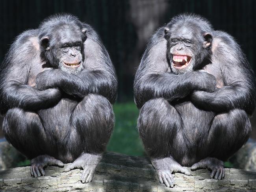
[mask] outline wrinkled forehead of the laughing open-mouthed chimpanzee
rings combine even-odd
[[[200,34],[200,27],[189,22],[177,23],[171,28],[171,38],[193,39]]]

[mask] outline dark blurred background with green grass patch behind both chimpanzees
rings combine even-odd
[[[106,46],[119,79],[114,105],[117,122],[108,149],[140,155],[142,152],[136,150],[143,151],[141,145],[134,144],[139,139],[132,85],[150,35],[179,13],[200,14],[216,30],[226,31],[237,39],[255,71],[255,9],[255,0],[2,0],[0,62],[19,33],[37,28],[49,15],[72,13],[91,24]],[[135,152],[129,151],[132,144]]]

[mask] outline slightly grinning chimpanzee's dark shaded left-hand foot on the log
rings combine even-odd
[[[63,167],[64,163],[49,155],[40,155],[31,160],[30,173],[33,177],[45,176],[44,168],[47,166]]]

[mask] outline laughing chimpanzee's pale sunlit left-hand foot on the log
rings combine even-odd
[[[189,171],[178,164],[172,157],[152,159],[151,162],[156,169],[160,183],[164,183],[168,187],[174,186],[172,173],[180,172],[185,175],[190,175]]]

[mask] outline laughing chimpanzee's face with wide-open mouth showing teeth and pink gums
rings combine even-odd
[[[167,35],[167,57],[170,67],[176,74],[193,71],[201,63],[203,36],[200,28],[192,24],[176,25],[170,30],[165,29]]]

